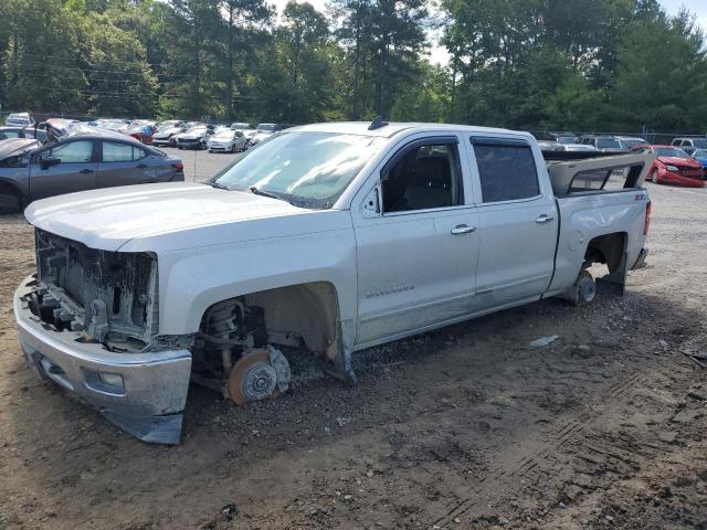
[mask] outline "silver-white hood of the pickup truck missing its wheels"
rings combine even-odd
[[[92,248],[165,251],[223,244],[277,235],[292,223],[278,222],[262,234],[251,225],[233,223],[313,212],[249,192],[226,191],[207,184],[168,182],[107,188],[35,201],[24,211],[34,226]],[[225,231],[184,233],[229,225]],[[261,227],[262,230],[262,227]],[[210,239],[213,239],[211,241]],[[226,241],[224,241],[224,239]],[[156,242],[156,240],[161,240]],[[126,243],[130,242],[128,245]]]

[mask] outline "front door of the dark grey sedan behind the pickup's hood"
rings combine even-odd
[[[30,200],[95,188],[98,163],[94,144],[92,139],[70,139],[34,152]]]

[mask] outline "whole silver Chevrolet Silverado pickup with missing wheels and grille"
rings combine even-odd
[[[14,297],[40,375],[140,439],[178,443],[191,381],[236,403],[287,389],[283,354],[355,381],[351,353],[561,296],[643,265],[645,156],[546,161],[511,130],[287,129],[207,183],[34,202]],[[550,178],[552,177],[552,178]]]

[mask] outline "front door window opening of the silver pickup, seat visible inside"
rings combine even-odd
[[[383,213],[463,204],[456,144],[413,147],[381,174]]]

